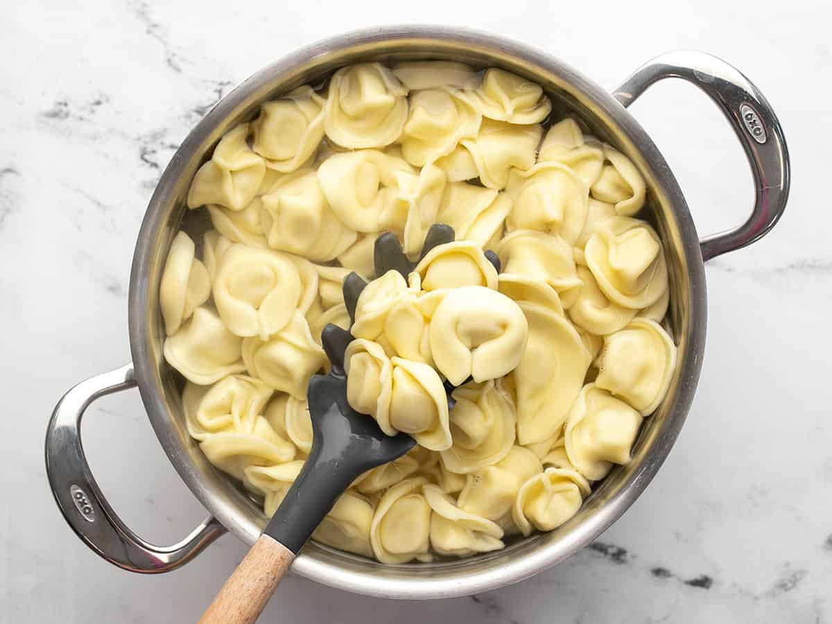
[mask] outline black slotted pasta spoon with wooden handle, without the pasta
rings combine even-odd
[[[433,225],[420,258],[453,239],[453,228]],[[486,256],[499,270],[497,255],[487,251]],[[404,255],[396,236],[385,233],[375,242],[374,265],[377,276],[394,269],[406,279],[415,263]],[[352,321],[366,285],[355,273],[344,280],[344,303]],[[370,468],[392,462],[414,448],[414,438],[404,433],[388,436],[373,418],[349,406],[344,352],[352,340],[352,334],[337,325],[324,327],[321,342],[331,367],[327,375],[314,375],[307,390],[312,421],[310,455],[265,530],[200,622],[255,622],[300,548],[349,484]],[[448,408],[452,408],[454,388],[445,384],[445,389]]]

